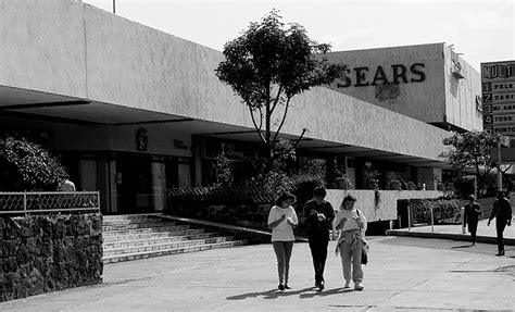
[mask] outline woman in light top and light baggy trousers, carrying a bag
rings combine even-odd
[[[352,277],[354,289],[363,290],[361,255],[366,245],[366,219],[361,211],[354,208],[355,201],[356,198],[352,195],[348,195],[343,198],[340,211],[332,222],[332,235],[336,236],[336,234],[339,233],[336,252],[340,252],[343,278],[346,278],[344,287],[350,287]]]

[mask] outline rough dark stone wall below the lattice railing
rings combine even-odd
[[[102,215],[0,217],[0,302],[102,283]]]

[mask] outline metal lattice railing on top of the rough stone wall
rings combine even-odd
[[[99,191],[0,192],[0,214],[96,212],[99,210]]]

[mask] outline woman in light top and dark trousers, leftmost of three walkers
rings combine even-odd
[[[276,201],[276,205],[268,214],[268,227],[272,228],[272,245],[277,257],[277,271],[279,273],[280,290],[290,289],[288,275],[290,271],[291,250],[296,237],[293,228],[298,224],[296,210],[291,207],[296,197],[289,192],[282,192]]]

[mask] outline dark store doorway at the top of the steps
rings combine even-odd
[[[116,158],[118,213],[152,212],[152,174],[147,155]]]

